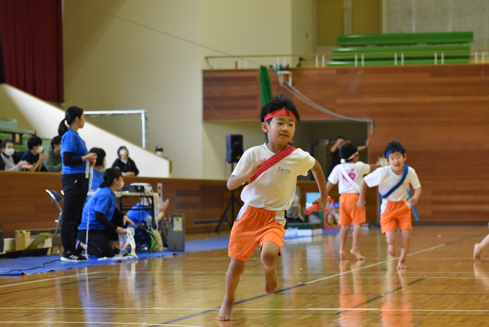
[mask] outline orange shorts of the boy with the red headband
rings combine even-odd
[[[231,229],[228,256],[246,261],[258,244],[261,252],[261,247],[265,242],[274,242],[281,249],[285,229],[274,219],[276,216],[277,211],[247,206]]]

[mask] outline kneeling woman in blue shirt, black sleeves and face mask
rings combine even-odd
[[[95,257],[114,257],[114,247],[118,244],[118,235],[126,235],[126,224],[136,225],[122,211],[117,209],[116,190],[124,186],[120,170],[109,168],[103,175],[104,181],[90,197],[83,209],[82,220],[78,226],[78,251],[87,249]],[[113,243],[113,244],[111,244]],[[114,245],[114,246],[113,246]]]

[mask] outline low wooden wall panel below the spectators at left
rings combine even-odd
[[[228,204],[231,192],[226,181],[187,180],[172,178],[125,177],[124,182],[149,183],[156,191],[163,184],[163,197],[170,199],[166,214],[182,210],[186,215],[186,232],[211,232],[217,224],[199,224],[219,220]],[[0,171],[0,224],[5,237],[13,237],[18,229],[54,229],[59,211],[51,204],[46,188],[62,189],[61,174]],[[235,193],[239,197],[240,189]],[[139,199],[128,197],[124,206],[134,205]],[[236,208],[236,212],[237,212]],[[197,224],[196,224],[197,223]],[[229,230],[223,226],[223,231]]]

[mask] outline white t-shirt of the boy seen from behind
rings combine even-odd
[[[341,169],[342,164],[344,164],[349,177],[359,186],[362,185],[363,176],[370,172],[370,164],[361,161],[357,161],[356,163],[340,163],[334,166],[327,178],[328,182],[338,184],[338,193],[340,194],[358,193],[359,190],[355,189],[343,175],[343,169]]]

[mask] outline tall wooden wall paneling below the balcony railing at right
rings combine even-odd
[[[422,223],[483,223],[489,220],[489,65],[426,65],[403,67],[291,69],[294,87],[338,114],[375,121],[369,161],[382,155],[395,138],[406,148],[407,164],[422,185]],[[216,74],[222,83],[209,83]],[[243,92],[254,111],[260,108],[258,70],[204,71],[204,98],[229,85],[224,74],[246,76]],[[250,78],[255,74],[256,82]],[[279,86],[269,70],[273,93],[296,103],[302,120],[336,119],[306,104]],[[250,84],[248,84],[250,83]],[[239,86],[233,87],[237,94]],[[239,101],[235,102],[239,105]],[[250,102],[247,102],[250,106]],[[252,120],[248,110],[214,111],[208,120]],[[236,107],[239,108],[239,107]],[[204,104],[204,112],[206,112]],[[231,114],[232,112],[232,114]],[[244,119],[244,117],[249,117]]]

